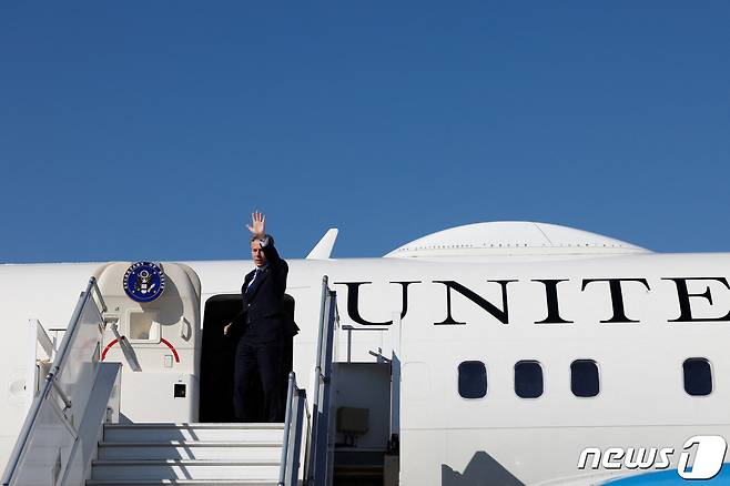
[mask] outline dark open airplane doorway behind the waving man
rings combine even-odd
[[[203,342],[201,346],[200,371],[200,422],[236,422],[233,413],[233,367],[235,348],[240,334],[223,335],[223,326],[241,312],[241,294],[214,295],[205,302],[203,320]],[[294,320],[294,297],[284,295],[284,312]],[[286,383],[292,371],[294,337],[286,337],[282,356],[282,397],[286,398]],[[251,399],[263,403],[263,392],[257,389]],[[263,419],[263,411],[261,411]]]

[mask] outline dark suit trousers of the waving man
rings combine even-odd
[[[240,422],[284,422],[282,399],[283,343],[249,343],[241,337],[235,352],[233,408]],[[256,381],[263,389],[263,404],[256,401]],[[263,405],[263,407],[261,407]]]

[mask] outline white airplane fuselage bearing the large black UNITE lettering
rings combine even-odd
[[[306,377],[303,385],[314,364],[323,275],[337,292],[341,327],[354,328],[349,360],[382,355],[397,362],[394,414],[403,485],[458,484],[484,475],[504,484],[581,484],[637,470],[618,456],[601,457],[596,468],[591,456],[579,468],[588,447],[672,448],[668,460],[676,468],[689,437],[730,437],[730,254],[288,263],[287,294],[301,327],[294,369]],[[203,320],[206,301],[240,293],[252,269],[246,261],[185,264],[201,281]],[[29,406],[28,320],[63,328],[101,265],[0,266],[0,464]],[[358,332],[367,328],[375,331]],[[710,364],[711,393],[686,391],[683,364],[692,358]],[[597,366],[595,396],[571,391],[576,361]],[[484,396],[460,396],[464,362],[484,364]],[[516,394],[515,365],[521,362],[541,368],[537,397]]]

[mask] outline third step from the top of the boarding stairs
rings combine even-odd
[[[92,460],[92,479],[278,479],[278,460]]]

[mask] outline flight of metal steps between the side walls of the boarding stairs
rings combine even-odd
[[[284,424],[107,424],[87,486],[276,485]]]

